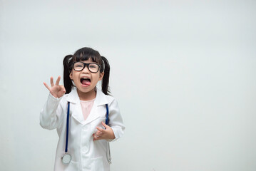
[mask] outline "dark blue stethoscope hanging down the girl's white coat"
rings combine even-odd
[[[71,155],[68,154],[68,133],[69,133],[69,110],[70,110],[70,102],[68,102],[68,111],[67,111],[67,118],[66,118],[66,147],[65,147],[65,154],[61,157],[61,161],[64,165],[68,165],[69,162],[71,162]],[[108,104],[106,104],[106,110],[107,110],[107,113],[106,113],[106,125],[108,125]],[[108,150],[107,150],[107,160],[108,160],[108,163],[111,164],[111,150],[110,150],[110,147],[109,147],[109,142],[108,142]]]

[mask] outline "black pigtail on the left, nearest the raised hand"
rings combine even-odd
[[[73,88],[73,83],[69,77],[72,69],[72,57],[72,55],[68,55],[63,59],[63,83],[66,89],[66,94],[70,93]]]

